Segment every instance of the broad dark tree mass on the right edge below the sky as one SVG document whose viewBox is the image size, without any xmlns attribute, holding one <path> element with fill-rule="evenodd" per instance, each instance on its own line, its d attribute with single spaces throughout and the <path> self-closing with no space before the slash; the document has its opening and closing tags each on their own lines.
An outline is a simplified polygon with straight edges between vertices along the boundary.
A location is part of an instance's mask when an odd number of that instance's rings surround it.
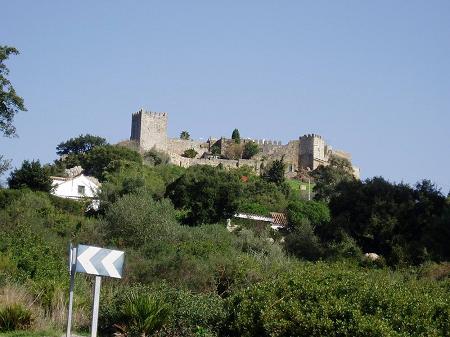
<svg viewBox="0 0 450 337">
<path fill-rule="evenodd" d="M 431 182 L 412 188 L 376 177 L 342 182 L 336 192 L 324 234 L 346 233 L 364 252 L 381 254 L 390 264 L 450 258 L 450 206 Z"/>
</svg>

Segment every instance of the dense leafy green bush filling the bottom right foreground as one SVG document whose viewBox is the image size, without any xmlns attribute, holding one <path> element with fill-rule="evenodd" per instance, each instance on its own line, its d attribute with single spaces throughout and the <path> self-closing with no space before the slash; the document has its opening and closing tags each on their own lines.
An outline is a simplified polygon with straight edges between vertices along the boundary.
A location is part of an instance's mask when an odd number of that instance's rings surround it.
<svg viewBox="0 0 450 337">
<path fill-rule="evenodd" d="M 235 293 L 221 336 L 448 336 L 448 287 L 347 264 L 303 264 Z"/>
</svg>

